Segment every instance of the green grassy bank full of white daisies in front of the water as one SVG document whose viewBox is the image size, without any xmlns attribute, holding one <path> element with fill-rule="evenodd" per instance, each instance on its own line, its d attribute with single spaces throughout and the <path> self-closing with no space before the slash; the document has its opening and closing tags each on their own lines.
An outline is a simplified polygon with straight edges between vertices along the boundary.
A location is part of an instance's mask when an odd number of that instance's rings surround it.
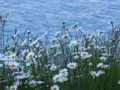
<svg viewBox="0 0 120 90">
<path fill-rule="evenodd" d="M 20 38 L 15 30 L 0 58 L 0 90 L 120 90 L 120 27 L 82 32 L 79 25 Z"/>
</svg>

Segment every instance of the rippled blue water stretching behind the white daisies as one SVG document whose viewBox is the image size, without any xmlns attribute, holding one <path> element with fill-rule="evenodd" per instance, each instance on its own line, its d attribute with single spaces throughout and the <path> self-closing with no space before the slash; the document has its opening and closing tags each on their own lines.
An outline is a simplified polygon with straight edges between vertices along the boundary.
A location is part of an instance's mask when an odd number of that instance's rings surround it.
<svg viewBox="0 0 120 90">
<path fill-rule="evenodd" d="M 14 27 L 34 34 L 61 30 L 79 23 L 83 30 L 107 31 L 110 21 L 120 22 L 120 0 L 0 0 L 0 15 L 8 14 L 5 30 Z"/>
</svg>

